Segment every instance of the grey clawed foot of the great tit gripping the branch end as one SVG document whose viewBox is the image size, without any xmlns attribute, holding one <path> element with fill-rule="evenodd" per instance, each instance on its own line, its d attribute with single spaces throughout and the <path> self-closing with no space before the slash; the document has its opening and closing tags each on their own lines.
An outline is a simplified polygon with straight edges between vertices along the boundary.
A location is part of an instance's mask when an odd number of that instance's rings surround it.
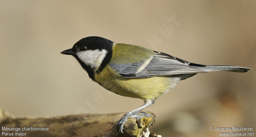
<svg viewBox="0 0 256 137">
<path fill-rule="evenodd" d="M 124 116 L 121 118 L 121 120 L 119 120 L 117 122 L 117 126 L 119 126 L 119 132 L 120 133 L 123 133 L 123 129 L 124 129 L 124 123 L 128 120 L 128 118 L 132 118 L 132 119 L 136 119 L 136 120 L 139 120 L 139 124 L 140 125 L 140 122 L 141 122 L 141 119 L 140 118 L 144 118 L 144 117 L 152 117 L 153 120 L 154 120 L 154 123 L 155 123 L 155 118 L 153 115 L 149 114 L 149 113 L 146 113 L 146 112 L 140 112 L 142 114 L 133 114 L 133 115 L 130 115 L 129 113 L 126 113 L 124 114 Z"/>
</svg>

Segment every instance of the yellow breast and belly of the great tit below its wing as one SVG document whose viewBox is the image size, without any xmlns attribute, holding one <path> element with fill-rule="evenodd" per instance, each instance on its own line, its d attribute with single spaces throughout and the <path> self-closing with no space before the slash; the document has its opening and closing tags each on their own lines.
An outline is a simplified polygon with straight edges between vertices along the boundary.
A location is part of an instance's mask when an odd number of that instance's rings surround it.
<svg viewBox="0 0 256 137">
<path fill-rule="evenodd" d="M 180 80 L 172 76 L 124 78 L 114 72 L 108 65 L 102 72 L 95 74 L 94 79 L 111 92 L 143 100 L 158 98 L 168 92 Z"/>
</svg>

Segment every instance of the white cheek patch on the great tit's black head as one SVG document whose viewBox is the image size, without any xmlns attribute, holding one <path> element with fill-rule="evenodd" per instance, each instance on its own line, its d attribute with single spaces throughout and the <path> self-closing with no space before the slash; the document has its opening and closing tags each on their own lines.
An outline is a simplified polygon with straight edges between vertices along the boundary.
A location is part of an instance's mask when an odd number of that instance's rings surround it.
<svg viewBox="0 0 256 137">
<path fill-rule="evenodd" d="M 108 51 L 105 49 L 102 50 L 88 50 L 84 52 L 77 52 L 77 57 L 83 61 L 86 65 L 89 65 L 93 69 L 100 67 L 103 59 L 106 57 Z"/>
</svg>

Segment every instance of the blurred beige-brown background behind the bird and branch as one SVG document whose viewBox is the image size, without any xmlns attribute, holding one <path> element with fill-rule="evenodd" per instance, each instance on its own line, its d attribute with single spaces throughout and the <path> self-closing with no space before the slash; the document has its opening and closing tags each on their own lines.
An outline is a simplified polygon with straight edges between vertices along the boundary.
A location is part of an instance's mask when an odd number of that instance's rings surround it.
<svg viewBox="0 0 256 137">
<path fill-rule="evenodd" d="M 0 1 L 0 108 L 15 116 L 128 112 L 143 104 L 89 79 L 71 56 L 100 36 L 190 62 L 256 68 L 256 1 Z M 171 17 L 174 20 L 168 20 Z M 168 34 L 163 35 L 162 31 Z M 157 39 L 156 44 L 150 40 Z M 146 108 L 163 136 L 220 136 L 210 127 L 256 130 L 254 70 L 181 81 Z"/>
</svg>

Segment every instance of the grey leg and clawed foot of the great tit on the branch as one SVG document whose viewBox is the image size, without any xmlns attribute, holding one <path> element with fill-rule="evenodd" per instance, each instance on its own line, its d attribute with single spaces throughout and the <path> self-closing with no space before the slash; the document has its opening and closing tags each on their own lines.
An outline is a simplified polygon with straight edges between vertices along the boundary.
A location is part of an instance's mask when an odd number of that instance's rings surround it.
<svg viewBox="0 0 256 137">
<path fill-rule="evenodd" d="M 128 118 L 136 118 L 137 120 L 140 120 L 140 117 L 153 117 L 151 114 L 148 113 L 143 113 L 141 115 L 138 115 L 144 108 L 152 106 L 155 103 L 155 101 L 153 99 L 147 99 L 144 101 L 144 105 L 124 114 L 124 116 L 122 117 L 121 120 L 119 120 L 117 122 L 117 126 L 119 126 L 119 132 L 123 133 L 123 129 L 124 129 L 124 123 L 127 121 Z M 154 122 L 155 122 L 155 118 L 153 117 Z"/>
</svg>

